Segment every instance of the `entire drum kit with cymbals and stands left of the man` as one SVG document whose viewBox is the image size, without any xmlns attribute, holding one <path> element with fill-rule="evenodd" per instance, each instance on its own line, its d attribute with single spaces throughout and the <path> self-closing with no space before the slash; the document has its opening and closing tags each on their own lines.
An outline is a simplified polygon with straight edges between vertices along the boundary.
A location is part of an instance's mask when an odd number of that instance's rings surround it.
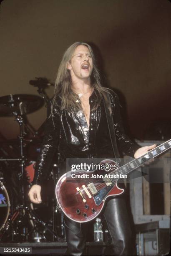
<svg viewBox="0 0 171 256">
<path fill-rule="evenodd" d="M 27 115 L 48 102 L 44 89 L 53 85 L 46 78 L 36 78 L 30 84 L 38 87 L 41 97 L 25 94 L 0 97 L 0 117 L 14 117 L 20 128 L 17 139 L 5 140 L 1 136 L 0 241 L 65 241 L 63 214 L 58 211 L 54 195 L 60 171 L 56 161 L 59 155 L 53 161 L 47 187 L 42 189 L 43 204 L 35 205 L 28 199 L 44 124 L 35 131 Z M 49 191 L 49 187 L 54 189 Z"/>
</svg>

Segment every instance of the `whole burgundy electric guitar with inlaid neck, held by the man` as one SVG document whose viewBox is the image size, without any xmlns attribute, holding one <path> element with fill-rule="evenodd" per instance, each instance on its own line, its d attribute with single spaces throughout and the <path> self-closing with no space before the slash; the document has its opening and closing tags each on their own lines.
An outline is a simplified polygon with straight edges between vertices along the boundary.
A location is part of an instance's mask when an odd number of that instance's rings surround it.
<svg viewBox="0 0 171 256">
<path fill-rule="evenodd" d="M 171 148 L 171 139 L 114 171 L 99 172 L 95 170 L 92 172 L 80 171 L 79 173 L 70 171 L 63 174 L 55 189 L 59 207 L 68 218 L 76 222 L 85 223 L 93 220 L 103 209 L 108 197 L 121 195 L 124 192 L 124 189 L 117 186 L 117 175 L 122 177 L 122 175 L 132 172 L 141 164 L 169 148 Z M 114 165 L 116 163 L 106 159 L 100 164 Z"/>
</svg>

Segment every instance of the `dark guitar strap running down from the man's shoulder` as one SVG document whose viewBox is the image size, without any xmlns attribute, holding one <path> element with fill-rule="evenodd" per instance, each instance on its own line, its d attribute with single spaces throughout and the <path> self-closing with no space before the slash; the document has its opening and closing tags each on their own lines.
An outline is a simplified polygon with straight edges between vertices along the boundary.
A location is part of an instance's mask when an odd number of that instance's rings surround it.
<svg viewBox="0 0 171 256">
<path fill-rule="evenodd" d="M 107 97 L 107 100 L 108 100 L 108 102 L 110 104 L 110 107 L 112 109 L 111 99 L 110 99 L 110 96 L 109 96 L 108 93 L 106 93 L 106 97 Z M 108 109 L 108 107 L 106 105 L 106 101 L 105 101 L 104 98 L 103 98 L 103 103 L 104 103 L 106 119 L 107 119 L 107 123 L 108 123 L 108 131 L 109 131 L 109 135 L 110 135 L 110 138 L 111 138 L 113 154 L 114 154 L 114 157 L 119 162 L 120 155 L 119 155 L 119 151 L 118 151 L 118 147 L 117 147 L 117 143 L 116 143 L 116 136 L 115 136 L 114 123 L 113 123 L 113 116 L 112 116 L 112 113 L 110 113 L 110 110 Z"/>
</svg>

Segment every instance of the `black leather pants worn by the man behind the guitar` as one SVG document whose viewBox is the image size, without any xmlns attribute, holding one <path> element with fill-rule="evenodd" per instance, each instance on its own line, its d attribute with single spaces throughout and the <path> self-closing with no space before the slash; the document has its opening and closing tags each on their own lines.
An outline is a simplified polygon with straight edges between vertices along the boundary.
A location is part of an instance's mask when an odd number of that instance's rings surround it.
<svg viewBox="0 0 171 256">
<path fill-rule="evenodd" d="M 108 200 L 102 215 L 111 236 L 111 255 L 131 255 L 133 241 L 124 198 L 119 197 Z M 67 255 L 86 255 L 87 226 L 86 223 L 77 223 L 65 217 L 65 233 L 68 243 Z"/>
</svg>

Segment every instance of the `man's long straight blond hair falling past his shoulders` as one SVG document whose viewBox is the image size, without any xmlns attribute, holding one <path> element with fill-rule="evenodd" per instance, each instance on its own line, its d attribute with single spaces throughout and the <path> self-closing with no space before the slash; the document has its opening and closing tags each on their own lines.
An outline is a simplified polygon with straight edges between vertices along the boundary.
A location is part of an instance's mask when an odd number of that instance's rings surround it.
<svg viewBox="0 0 171 256">
<path fill-rule="evenodd" d="M 92 60 L 93 60 L 93 71 L 91 73 L 91 86 L 94 87 L 95 92 L 98 93 L 99 97 L 98 97 L 98 100 L 94 102 L 92 110 L 95 110 L 96 108 L 98 108 L 102 97 L 104 97 L 104 99 L 107 102 L 106 92 L 108 93 L 110 92 L 108 88 L 101 86 L 100 74 L 96 66 L 96 61 L 95 61 L 95 57 L 94 57 L 91 46 L 83 42 L 75 42 L 65 51 L 62 61 L 60 62 L 57 78 L 55 81 L 55 92 L 51 102 L 52 111 L 53 111 L 53 106 L 54 106 L 54 103 L 56 102 L 57 97 L 60 97 L 60 100 L 61 100 L 61 105 L 60 105 L 61 110 L 63 109 L 70 110 L 71 107 L 75 107 L 77 110 L 81 108 L 80 102 L 77 100 L 78 95 L 76 95 L 71 89 L 72 80 L 70 76 L 70 71 L 68 70 L 68 63 L 71 61 L 74 51 L 79 45 L 84 45 L 89 49 Z"/>
</svg>

